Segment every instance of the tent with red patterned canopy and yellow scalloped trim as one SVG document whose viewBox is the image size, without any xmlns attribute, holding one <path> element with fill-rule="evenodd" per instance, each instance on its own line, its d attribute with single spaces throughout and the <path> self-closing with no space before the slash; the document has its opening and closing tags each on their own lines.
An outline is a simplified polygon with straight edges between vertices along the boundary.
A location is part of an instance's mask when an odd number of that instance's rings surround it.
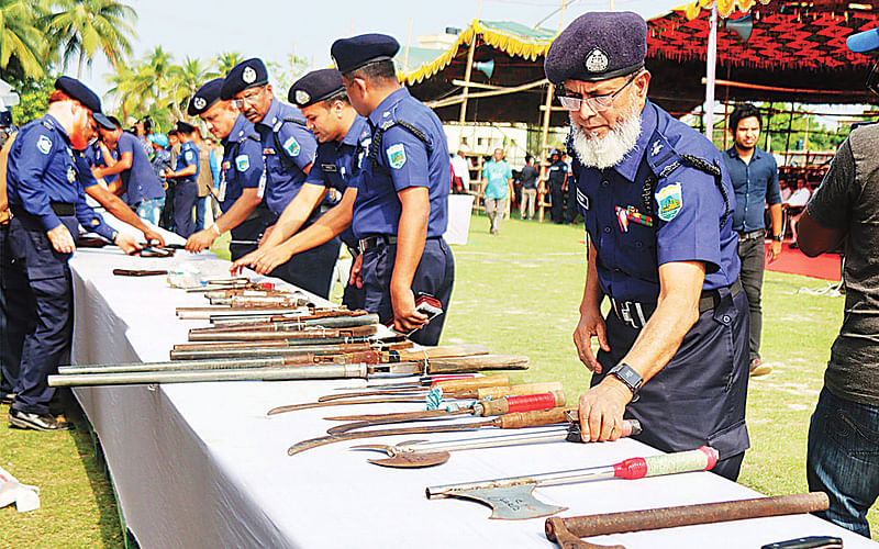
<svg viewBox="0 0 879 549">
<path fill-rule="evenodd" d="M 710 11 L 701 7 L 711 0 L 694 3 L 700 4 L 699 10 L 688 7 L 693 19 L 688 19 L 682 7 L 648 21 L 650 97 L 676 114 L 692 111 L 705 97 L 702 79 Z M 748 7 L 749 12 L 741 11 Z M 845 38 L 879 26 L 879 10 L 871 4 L 719 0 L 719 10 L 727 8 L 730 18 L 717 32 L 717 99 L 869 100 L 864 82 L 872 59 L 849 52 Z M 746 15 L 753 24 L 747 41 L 732 29 L 735 23 L 746 25 L 748 21 L 742 21 Z M 555 34 L 512 22 L 474 21 L 450 48 L 404 71 L 403 78 L 413 94 L 432 103 L 443 120 L 459 120 L 466 94 L 468 122 L 539 124 L 546 102 L 543 60 Z M 474 63 L 489 60 L 494 61 L 491 78 L 472 69 Z M 735 86 L 727 87 L 730 81 Z M 550 125 L 564 125 L 566 119 L 567 114 L 554 107 Z"/>
</svg>

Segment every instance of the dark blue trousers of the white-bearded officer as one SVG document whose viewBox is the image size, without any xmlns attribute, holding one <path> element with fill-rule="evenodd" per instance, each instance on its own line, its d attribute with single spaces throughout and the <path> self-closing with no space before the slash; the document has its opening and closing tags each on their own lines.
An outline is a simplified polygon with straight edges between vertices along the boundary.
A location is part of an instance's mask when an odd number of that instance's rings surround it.
<svg viewBox="0 0 879 549">
<path fill-rule="evenodd" d="M 748 304 L 745 292 L 717 290 L 717 305 L 699 315 L 678 352 L 641 388 L 641 399 L 626 406 L 626 417 L 638 419 L 639 441 L 663 451 L 685 451 L 709 445 L 720 452 L 713 471 L 738 478 L 749 448 L 745 426 L 748 391 Z M 611 311 L 605 320 L 610 352 L 600 350 L 598 384 L 632 348 L 641 329 Z"/>
</svg>

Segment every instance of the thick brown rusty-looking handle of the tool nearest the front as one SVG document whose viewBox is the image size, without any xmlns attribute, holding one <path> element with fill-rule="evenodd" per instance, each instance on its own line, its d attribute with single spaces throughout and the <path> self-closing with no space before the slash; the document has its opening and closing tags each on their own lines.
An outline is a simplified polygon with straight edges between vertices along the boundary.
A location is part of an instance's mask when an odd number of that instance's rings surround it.
<svg viewBox="0 0 879 549">
<path fill-rule="evenodd" d="M 681 505 L 646 511 L 608 513 L 604 515 L 587 515 L 570 518 L 553 518 L 546 520 L 546 537 L 556 540 L 556 529 L 564 525 L 565 530 L 586 538 L 607 534 L 626 531 L 656 530 L 696 524 L 713 524 L 745 518 L 798 515 L 824 511 L 830 506 L 827 494 L 811 492 L 808 494 L 779 495 L 757 497 L 733 502 L 706 503 L 699 505 Z"/>
</svg>

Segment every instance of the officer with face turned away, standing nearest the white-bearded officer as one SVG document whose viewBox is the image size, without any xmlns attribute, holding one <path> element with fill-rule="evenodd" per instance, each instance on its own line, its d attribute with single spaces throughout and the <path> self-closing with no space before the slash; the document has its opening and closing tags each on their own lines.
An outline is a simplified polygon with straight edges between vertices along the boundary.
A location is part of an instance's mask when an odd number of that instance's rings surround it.
<svg viewBox="0 0 879 549">
<path fill-rule="evenodd" d="M 392 59 L 399 49 L 383 34 L 333 43 L 348 101 L 369 124 L 369 148 L 357 155 L 356 188 L 348 187 L 334 215 L 324 215 L 291 243 L 307 249 L 351 226 L 363 254 L 364 309 L 382 323 L 392 321 L 399 332 L 416 330 L 413 341 L 436 345 L 446 315 L 427 324 L 415 299 L 433 296 L 447 311 L 452 296 L 455 261 L 443 239 L 448 145 L 436 114 L 397 81 Z"/>
</svg>

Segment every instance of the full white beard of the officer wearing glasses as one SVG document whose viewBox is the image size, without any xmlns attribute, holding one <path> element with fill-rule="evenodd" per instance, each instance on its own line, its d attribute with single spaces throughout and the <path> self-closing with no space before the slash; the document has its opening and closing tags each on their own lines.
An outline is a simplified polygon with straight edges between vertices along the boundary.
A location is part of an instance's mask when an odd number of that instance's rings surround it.
<svg viewBox="0 0 879 549">
<path fill-rule="evenodd" d="M 586 132 L 570 121 L 571 145 L 580 164 L 587 167 L 605 169 L 616 166 L 632 153 L 641 135 L 641 112 L 637 103 L 633 102 L 616 127 L 608 132 L 604 137 L 598 137 L 591 132 Z"/>
</svg>

